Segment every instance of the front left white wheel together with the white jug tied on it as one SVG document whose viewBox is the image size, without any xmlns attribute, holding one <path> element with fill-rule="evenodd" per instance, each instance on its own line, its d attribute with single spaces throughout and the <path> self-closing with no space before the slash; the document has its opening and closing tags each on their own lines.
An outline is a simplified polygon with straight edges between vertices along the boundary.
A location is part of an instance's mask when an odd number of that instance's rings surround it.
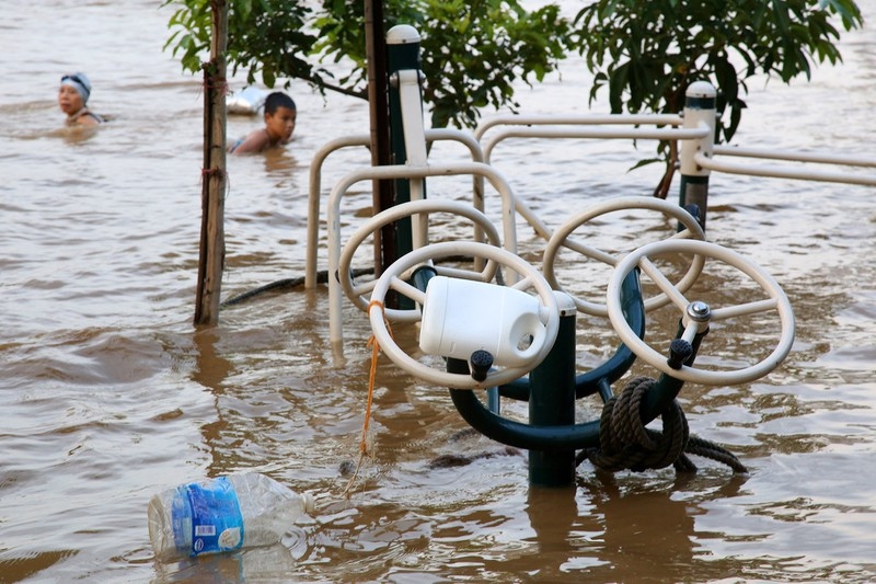
<svg viewBox="0 0 876 584">
<path fill-rule="evenodd" d="M 406 275 L 410 278 L 412 268 L 426 262 L 464 254 L 479 255 L 497 262 L 515 270 L 522 279 L 511 287 L 505 287 L 491 284 L 484 273 L 464 274 L 463 271 L 457 271 L 450 282 L 461 279 L 470 283 L 469 286 L 451 286 L 452 289 L 448 290 L 442 285 L 447 286 L 449 282 L 439 279 L 446 276 L 437 276 L 430 279 L 425 291 L 405 279 Z M 527 302 L 518 297 L 517 293 L 523 295 L 522 290 L 530 288 L 538 294 L 538 301 Z M 425 344 L 437 351 L 443 350 L 438 356 L 464 358 L 476 371 L 473 375 L 442 371 L 424 365 L 399 347 L 384 322 L 383 301 L 390 289 L 424 307 L 420 348 L 424 348 Z M 454 294 L 460 293 L 471 296 L 453 298 Z M 481 299 L 476 296 L 481 296 Z M 523 296 L 531 298 L 528 295 Z M 474 304 L 480 312 L 465 310 L 462 306 L 464 302 Z M 454 309 L 458 311 L 456 314 Z M 459 311 L 464 312 L 460 314 Z M 533 266 L 500 248 L 471 241 L 433 243 L 393 262 L 377 280 L 368 306 L 368 317 L 380 347 L 397 366 L 420 379 L 454 389 L 488 388 L 520 378 L 544 360 L 553 347 L 560 327 L 560 309 L 554 291 Z M 508 324 L 507 329 L 505 324 Z M 439 339 L 435 340 L 433 335 Z M 528 337 L 528 346 L 519 347 L 519 341 L 523 336 Z M 459 353 L 461 347 L 469 344 L 475 345 L 475 348 L 468 354 Z M 498 350 L 486 355 L 482 346 L 495 346 Z M 507 367 L 493 369 L 494 364 Z"/>
</svg>

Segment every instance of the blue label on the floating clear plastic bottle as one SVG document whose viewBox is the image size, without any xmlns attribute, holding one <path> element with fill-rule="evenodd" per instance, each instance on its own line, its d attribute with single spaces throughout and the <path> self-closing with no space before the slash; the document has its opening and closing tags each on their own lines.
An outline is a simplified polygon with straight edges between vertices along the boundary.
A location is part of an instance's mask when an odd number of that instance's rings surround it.
<svg viewBox="0 0 876 584">
<path fill-rule="evenodd" d="M 174 537 L 185 541 L 183 529 L 191 529 L 191 557 L 232 551 L 243 546 L 243 516 L 238 494 L 227 477 L 195 482 L 180 488 L 188 508 L 174 505 Z M 178 515 L 178 516 L 177 516 Z M 187 515 L 187 516 L 185 516 Z M 191 522 L 188 520 L 191 517 Z"/>
</svg>

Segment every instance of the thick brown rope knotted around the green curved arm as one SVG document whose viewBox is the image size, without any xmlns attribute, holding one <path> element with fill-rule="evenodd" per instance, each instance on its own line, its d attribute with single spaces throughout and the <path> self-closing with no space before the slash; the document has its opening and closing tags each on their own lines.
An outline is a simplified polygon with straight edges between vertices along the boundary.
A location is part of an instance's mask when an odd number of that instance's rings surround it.
<svg viewBox="0 0 876 584">
<path fill-rule="evenodd" d="M 636 377 L 620 396 L 606 402 L 599 420 L 599 447 L 580 451 L 578 463 L 589 460 L 595 467 L 610 472 L 625 469 L 642 472 L 670 465 L 676 472 L 695 472 L 696 466 L 687 456 L 690 454 L 723 462 L 735 472 L 748 472 L 729 450 L 690 435 L 688 420 L 678 400 L 672 400 L 660 414 L 662 432 L 645 427 L 639 408 L 655 383 L 648 377 Z"/>
</svg>

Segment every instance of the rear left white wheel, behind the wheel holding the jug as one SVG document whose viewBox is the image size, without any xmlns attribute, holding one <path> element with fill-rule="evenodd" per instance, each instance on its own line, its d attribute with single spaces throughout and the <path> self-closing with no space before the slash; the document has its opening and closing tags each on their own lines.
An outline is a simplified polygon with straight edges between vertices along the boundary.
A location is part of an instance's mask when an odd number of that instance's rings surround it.
<svg viewBox="0 0 876 584">
<path fill-rule="evenodd" d="M 377 284 L 377 279 L 360 283 L 355 283 L 353 279 L 350 265 L 356 251 L 362 244 L 362 242 L 383 226 L 390 225 L 404 217 L 425 215 L 429 213 L 448 213 L 465 217 L 475 226 L 484 230 L 487 242 L 496 247 L 502 244 L 499 232 L 496 229 L 496 226 L 494 226 L 483 213 L 471 205 L 456 201 L 435 201 L 424 198 L 420 201 L 411 201 L 392 206 L 374 215 L 368 220 L 368 222 L 357 229 L 349 238 L 349 241 L 347 241 L 347 244 L 344 245 L 344 250 L 341 253 L 337 278 L 341 282 L 341 288 L 344 290 L 344 294 L 347 295 L 347 298 L 349 298 L 353 304 L 362 310 L 368 311 L 368 297 Z M 473 272 L 446 266 L 433 267 L 438 274 L 441 275 L 468 279 L 482 279 L 487 282 L 493 279 L 493 276 L 496 273 L 495 262 L 487 262 L 483 272 Z M 390 321 L 414 322 L 419 320 L 419 310 L 387 309 L 387 318 Z"/>
</svg>

